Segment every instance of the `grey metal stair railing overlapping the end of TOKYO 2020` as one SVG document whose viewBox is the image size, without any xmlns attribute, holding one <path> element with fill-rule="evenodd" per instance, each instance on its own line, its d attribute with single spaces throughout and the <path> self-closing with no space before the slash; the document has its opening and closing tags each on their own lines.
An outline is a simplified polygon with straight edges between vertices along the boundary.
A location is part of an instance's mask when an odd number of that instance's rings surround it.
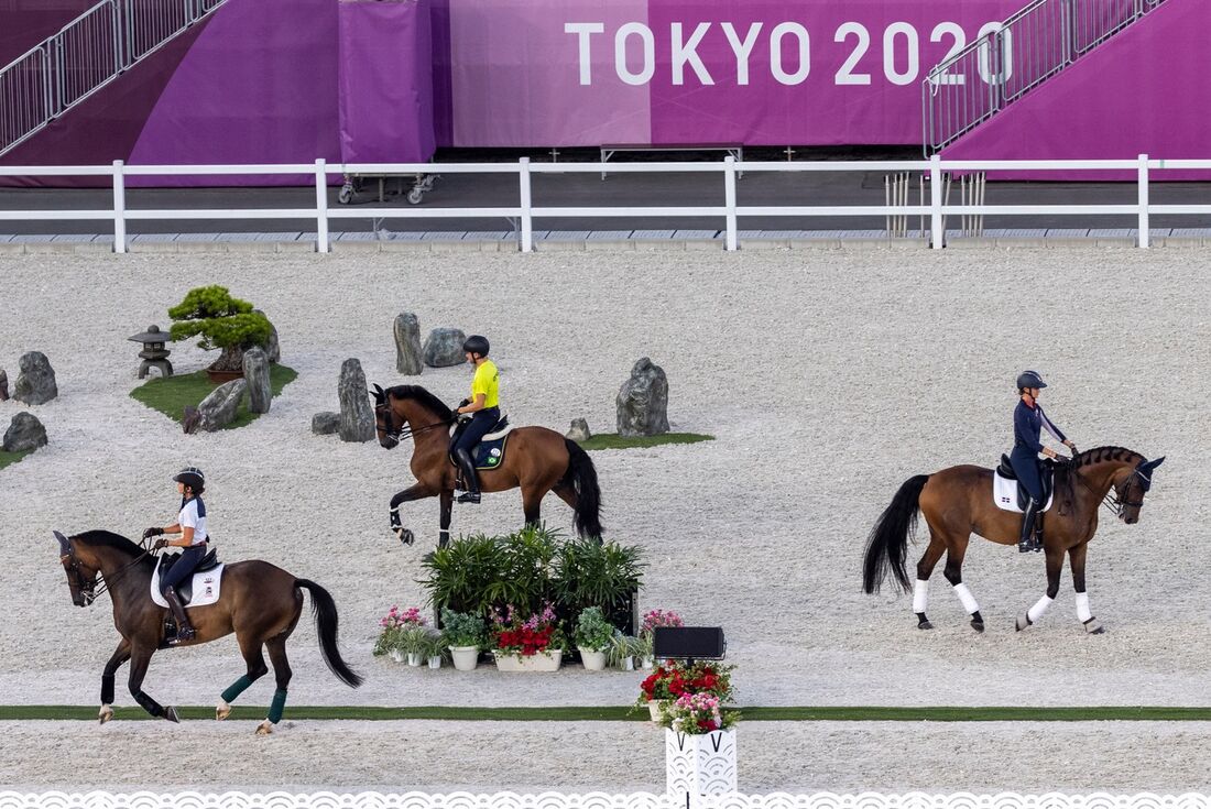
<svg viewBox="0 0 1211 809">
<path fill-rule="evenodd" d="M 1165 0 L 1034 0 L 989 23 L 922 85 L 925 155 L 941 151 Z"/>
</svg>

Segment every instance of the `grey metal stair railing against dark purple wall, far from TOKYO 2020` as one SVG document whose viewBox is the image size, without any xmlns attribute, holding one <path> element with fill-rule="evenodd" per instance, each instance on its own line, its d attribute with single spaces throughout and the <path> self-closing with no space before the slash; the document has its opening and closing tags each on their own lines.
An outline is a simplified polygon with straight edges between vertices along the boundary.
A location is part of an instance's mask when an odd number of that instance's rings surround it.
<svg viewBox="0 0 1211 809">
<path fill-rule="evenodd" d="M 226 0 L 101 0 L 0 69 L 0 156 Z"/>
</svg>

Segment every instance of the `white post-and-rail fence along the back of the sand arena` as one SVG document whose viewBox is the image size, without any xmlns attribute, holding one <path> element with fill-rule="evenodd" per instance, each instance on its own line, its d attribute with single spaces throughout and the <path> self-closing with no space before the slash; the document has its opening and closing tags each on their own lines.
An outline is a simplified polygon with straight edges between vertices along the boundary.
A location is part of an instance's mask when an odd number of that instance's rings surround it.
<svg viewBox="0 0 1211 809">
<path fill-rule="evenodd" d="M 516 163 L 271 163 L 241 166 L 0 166 L 0 177 L 110 177 L 113 207 L 93 210 L 0 211 L 0 222 L 109 220 L 114 230 L 114 252 L 127 248 L 128 222 L 172 222 L 199 219 L 314 219 L 316 251 L 327 253 L 333 219 L 471 219 L 509 218 L 518 222 L 522 252 L 534 249 L 534 220 L 559 218 L 636 218 L 636 217 L 718 217 L 724 223 L 724 247 L 740 246 L 740 220 L 746 217 L 888 217 L 924 216 L 930 222 L 930 246 L 945 246 L 948 216 L 1131 216 L 1137 220 L 1137 245 L 1149 246 L 1152 214 L 1211 214 L 1211 205 L 1152 205 L 1149 182 L 1153 171 L 1211 171 L 1211 160 L 930 160 L 896 161 L 745 161 L 725 157 L 722 162 L 637 162 L 609 163 L 610 173 L 714 173 L 723 180 L 723 205 L 684 206 L 544 206 L 534 205 L 534 174 L 598 173 L 606 163 L 532 163 L 522 157 Z M 925 205 L 739 205 L 736 178 L 758 172 L 923 172 L 929 178 Z M 1136 202 L 1119 205 L 947 205 L 943 199 L 943 173 L 977 171 L 1032 172 L 1135 172 Z M 328 178 L 334 174 L 516 174 L 517 205 L 498 207 L 368 207 L 329 208 Z M 306 208 L 131 208 L 127 206 L 127 177 L 197 176 L 310 176 L 315 184 L 315 206 Z"/>
</svg>

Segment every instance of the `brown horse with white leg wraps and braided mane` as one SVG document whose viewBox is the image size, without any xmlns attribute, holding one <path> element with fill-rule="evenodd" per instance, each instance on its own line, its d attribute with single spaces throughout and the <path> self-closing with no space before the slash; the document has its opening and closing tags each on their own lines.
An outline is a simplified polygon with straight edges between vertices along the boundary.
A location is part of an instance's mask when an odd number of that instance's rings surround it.
<svg viewBox="0 0 1211 809">
<path fill-rule="evenodd" d="M 1140 453 L 1121 447 L 1100 447 L 1058 465 L 1055 481 L 1055 503 L 1058 505 L 1046 513 L 1043 529 L 1048 591 L 1017 619 L 1017 631 L 1039 620 L 1060 592 L 1060 570 L 1066 553 L 1077 591 L 1077 618 L 1086 632 L 1096 635 L 1103 631 L 1090 612 L 1085 592 L 1085 553 L 1089 540 L 1097 530 L 1097 509 L 1106 504 L 1123 522 L 1138 522 L 1153 472 L 1164 460 L 1147 460 Z M 963 555 L 966 553 L 968 540 L 976 533 L 998 545 L 1014 545 L 1022 526 L 1021 513 L 1003 511 L 993 503 L 992 482 L 991 469 L 970 465 L 952 466 L 905 481 L 871 532 L 862 589 L 868 593 L 877 592 L 890 567 L 896 584 L 905 592 L 913 592 L 917 626 L 932 629 L 925 618 L 929 575 L 946 553 L 943 575 L 971 615 L 972 629 L 983 632 L 980 606 L 963 584 Z M 929 524 L 929 547 L 917 563 L 917 581 L 913 585 L 905 570 L 905 555 L 916 529 L 918 511 L 925 515 Z"/>
</svg>

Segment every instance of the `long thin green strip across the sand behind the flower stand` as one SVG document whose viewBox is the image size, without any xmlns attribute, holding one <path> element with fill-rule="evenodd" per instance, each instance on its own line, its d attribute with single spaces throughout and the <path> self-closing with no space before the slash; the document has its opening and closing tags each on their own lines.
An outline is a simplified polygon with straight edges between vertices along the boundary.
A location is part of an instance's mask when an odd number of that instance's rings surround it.
<svg viewBox="0 0 1211 809">
<path fill-rule="evenodd" d="M 234 719 L 263 719 L 265 705 L 237 705 Z M 1207 722 L 1211 707 L 1090 706 L 1090 707 L 741 707 L 748 722 Z M 208 706 L 178 707 L 183 719 L 213 719 Z M 139 707 L 117 707 L 120 719 L 150 719 Z M 288 719 L 443 719 L 463 722 L 648 722 L 645 710 L 630 707 L 360 707 L 288 705 Z M 97 707 L 88 705 L 0 705 L 0 721 L 90 719 Z"/>
</svg>

